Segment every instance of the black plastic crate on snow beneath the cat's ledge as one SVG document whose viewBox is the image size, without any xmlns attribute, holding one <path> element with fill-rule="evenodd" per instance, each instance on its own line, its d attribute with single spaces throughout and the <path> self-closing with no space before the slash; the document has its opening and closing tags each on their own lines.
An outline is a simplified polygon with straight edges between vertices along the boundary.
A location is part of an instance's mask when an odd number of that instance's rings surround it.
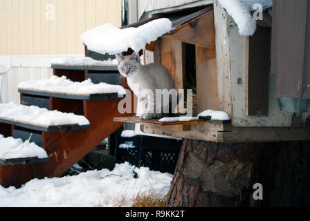
<svg viewBox="0 0 310 221">
<path fill-rule="evenodd" d="M 129 162 L 154 171 L 174 173 L 182 140 L 136 135 L 118 137 L 116 140 L 116 163 Z"/>
</svg>

